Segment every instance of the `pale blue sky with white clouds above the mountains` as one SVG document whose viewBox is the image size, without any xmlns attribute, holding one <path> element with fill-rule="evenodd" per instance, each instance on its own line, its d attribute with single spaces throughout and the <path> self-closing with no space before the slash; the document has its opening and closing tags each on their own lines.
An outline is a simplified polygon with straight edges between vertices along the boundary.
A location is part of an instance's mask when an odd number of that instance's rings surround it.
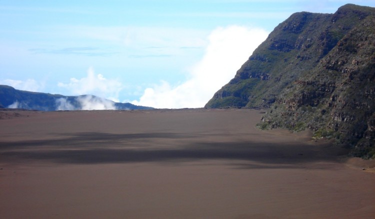
<svg viewBox="0 0 375 219">
<path fill-rule="evenodd" d="M 0 0 L 0 84 L 203 107 L 294 12 L 372 0 Z"/>
</svg>

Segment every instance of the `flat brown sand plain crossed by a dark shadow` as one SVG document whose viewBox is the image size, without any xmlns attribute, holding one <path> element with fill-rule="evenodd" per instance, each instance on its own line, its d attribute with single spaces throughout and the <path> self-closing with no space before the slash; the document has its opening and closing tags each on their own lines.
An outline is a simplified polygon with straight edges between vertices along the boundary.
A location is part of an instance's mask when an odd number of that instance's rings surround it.
<svg viewBox="0 0 375 219">
<path fill-rule="evenodd" d="M 260 116 L 3 111 L 0 218 L 373 218 L 372 161 Z"/>
</svg>

